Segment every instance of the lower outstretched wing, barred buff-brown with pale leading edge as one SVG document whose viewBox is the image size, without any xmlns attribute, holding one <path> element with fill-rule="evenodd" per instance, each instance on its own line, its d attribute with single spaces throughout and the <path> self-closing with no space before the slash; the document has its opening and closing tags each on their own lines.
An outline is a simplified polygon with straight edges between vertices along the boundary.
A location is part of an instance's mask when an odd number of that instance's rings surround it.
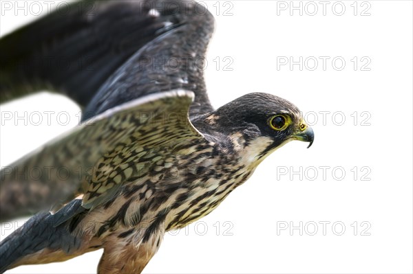
<svg viewBox="0 0 413 274">
<path fill-rule="evenodd" d="M 128 160 L 134 164 L 145 163 L 153 161 L 153 155 L 145 155 L 150 148 L 173 146 L 181 139 L 203 138 L 189 121 L 191 102 L 193 93 L 184 90 L 156 93 L 132 100 L 87 120 L 70 133 L 39 148 L 14 163 L 10 172 L 1 170 L 4 172 L 2 180 L 10 182 L 19 179 L 22 170 L 29 171 L 29 174 L 32 170 L 38 170 L 42 174 L 34 182 L 29 178 L 2 185 L 1 218 L 25 213 L 13 212 L 14 209 L 23 208 L 23 205 L 38 206 L 39 197 L 47 198 L 49 203 L 73 198 L 70 194 L 78 190 L 79 182 L 83 182 L 85 187 L 84 207 L 96 207 L 103 203 L 116 193 L 115 190 L 129 172 L 129 162 L 125 157 L 128 156 Z M 125 163 L 128 166 L 124 166 Z M 65 170 L 65 178 L 59 177 L 62 176 L 62 170 Z M 7 195 L 30 191 L 37 195 L 30 193 L 18 199 Z M 79 193 L 82 192 L 80 190 Z"/>
</svg>

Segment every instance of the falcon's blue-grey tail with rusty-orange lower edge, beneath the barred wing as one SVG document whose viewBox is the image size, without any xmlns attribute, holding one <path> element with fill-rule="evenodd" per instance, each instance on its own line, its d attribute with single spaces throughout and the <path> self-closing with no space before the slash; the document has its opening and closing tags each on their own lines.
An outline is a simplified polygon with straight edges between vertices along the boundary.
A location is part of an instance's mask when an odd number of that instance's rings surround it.
<svg viewBox="0 0 413 274">
<path fill-rule="evenodd" d="M 54 226 L 52 214 L 41 212 L 0 242 L 0 273 L 21 264 L 44 264 L 72 258 L 81 240 L 65 224 Z"/>
</svg>

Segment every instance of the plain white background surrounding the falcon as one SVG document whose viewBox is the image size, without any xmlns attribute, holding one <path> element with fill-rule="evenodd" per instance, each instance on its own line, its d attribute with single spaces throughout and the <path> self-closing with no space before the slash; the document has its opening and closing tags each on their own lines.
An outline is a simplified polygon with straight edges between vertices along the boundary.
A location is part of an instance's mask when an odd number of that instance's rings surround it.
<svg viewBox="0 0 413 274">
<path fill-rule="evenodd" d="M 313 3 L 306 1 L 301 3 L 302 16 L 299 10 L 290 15 L 290 1 L 221 1 L 219 14 L 216 1 L 204 3 L 216 17 L 206 71 L 213 105 L 253 91 L 279 95 L 311 114 L 311 122 L 318 114 L 313 123 L 315 143 L 308 150 L 298 141 L 277 150 L 196 227 L 190 225 L 177 236 L 167 233 L 144 272 L 412 273 L 412 2 L 359 1 L 354 15 L 353 1 L 343 1 L 346 10 L 341 16 L 336 15 L 340 3 L 332 10 L 335 1 L 327 5 L 326 15 L 319 1 L 313 2 L 318 8 L 314 16 L 309 15 Z M 284 4 L 287 10 L 280 9 Z M 366 8 L 370 16 L 361 16 Z M 232 15 L 223 16 L 224 10 Z M 2 35 L 38 17 L 13 13 L 2 14 Z M 302 71 L 299 65 L 277 69 L 277 59 L 283 56 L 295 61 L 313 56 L 319 66 L 311 71 L 310 58 Z M 326 70 L 319 56 L 330 57 Z M 213 62 L 217 57 L 218 70 Z M 228 63 L 224 57 L 232 58 L 232 71 L 224 71 Z M 346 61 L 341 71 L 338 61 L 336 69 L 332 67 L 335 57 Z M 361 62 L 363 57 L 367 59 Z M 370 71 L 361 70 L 366 60 L 371 61 L 365 67 Z M 56 119 L 52 126 L 25 126 L 24 121 L 19 126 L 1 125 L 4 166 L 75 126 L 79 110 L 60 96 L 43 93 L 4 104 L 1 111 L 72 115 L 67 126 Z M 323 111 L 330 112 L 325 121 Z M 338 113 L 335 119 L 333 113 Z M 341 117 L 346 120 L 339 126 Z M 319 167 L 329 168 L 326 178 Z M 290 168 L 298 171 L 293 178 Z M 342 179 L 341 170 L 346 172 Z M 320 223 L 324 221 L 330 222 L 325 233 Z M 299 229 L 290 231 L 300 222 L 302 235 Z M 13 222 L 11 229 L 10 224 L 3 225 L 1 238 L 21 224 L 23 220 Z M 277 231 L 285 224 L 288 229 Z M 314 224 L 318 231 L 311 236 Z M 341 225 L 346 230 L 339 236 Z M 208 230 L 202 235 L 204 227 Z M 224 233 L 225 229 L 229 231 Z M 232 235 L 224 235 L 228 233 Z M 101 252 L 8 273 L 94 273 Z"/>
</svg>

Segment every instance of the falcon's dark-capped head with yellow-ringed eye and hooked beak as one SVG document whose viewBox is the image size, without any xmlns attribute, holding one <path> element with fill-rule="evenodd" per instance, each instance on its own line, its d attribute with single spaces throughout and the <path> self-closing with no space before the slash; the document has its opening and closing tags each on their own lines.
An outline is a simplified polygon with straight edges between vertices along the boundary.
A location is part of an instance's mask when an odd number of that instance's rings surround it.
<svg viewBox="0 0 413 274">
<path fill-rule="evenodd" d="M 294 104 L 267 93 L 249 93 L 207 115 L 234 148 L 255 161 L 264 159 L 288 141 L 313 144 L 314 133 Z M 243 154 L 244 154 L 243 153 Z"/>
</svg>

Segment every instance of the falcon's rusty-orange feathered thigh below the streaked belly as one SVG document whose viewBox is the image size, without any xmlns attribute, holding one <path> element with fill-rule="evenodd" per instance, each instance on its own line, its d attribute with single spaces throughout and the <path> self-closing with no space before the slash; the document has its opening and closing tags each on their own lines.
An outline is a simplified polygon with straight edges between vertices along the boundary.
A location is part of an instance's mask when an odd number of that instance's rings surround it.
<svg viewBox="0 0 413 274">
<path fill-rule="evenodd" d="M 98 274 L 141 273 L 162 242 L 165 227 L 116 231 L 105 238 Z"/>
</svg>

